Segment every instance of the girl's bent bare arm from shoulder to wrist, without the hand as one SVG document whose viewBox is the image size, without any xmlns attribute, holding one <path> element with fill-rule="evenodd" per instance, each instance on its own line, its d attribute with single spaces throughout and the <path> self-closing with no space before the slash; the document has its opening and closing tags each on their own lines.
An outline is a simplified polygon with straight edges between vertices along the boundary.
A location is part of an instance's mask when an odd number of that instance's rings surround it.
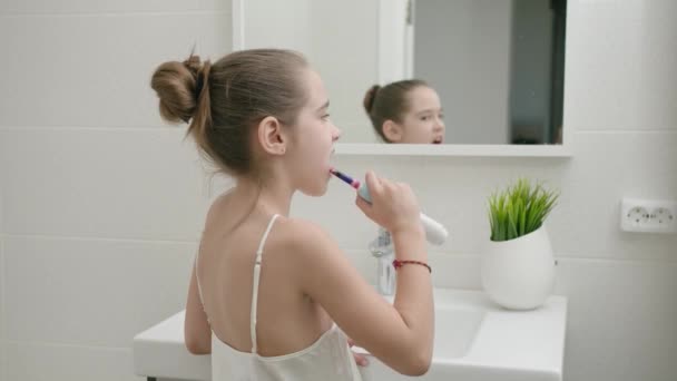
<svg viewBox="0 0 677 381">
<path fill-rule="evenodd" d="M 398 270 L 391 305 L 347 261 L 318 226 L 290 221 L 302 291 L 320 303 L 355 343 L 409 375 L 428 371 L 432 359 L 433 297 L 426 267 L 408 264 Z M 422 227 L 393 232 L 400 260 L 428 261 Z"/>
</svg>

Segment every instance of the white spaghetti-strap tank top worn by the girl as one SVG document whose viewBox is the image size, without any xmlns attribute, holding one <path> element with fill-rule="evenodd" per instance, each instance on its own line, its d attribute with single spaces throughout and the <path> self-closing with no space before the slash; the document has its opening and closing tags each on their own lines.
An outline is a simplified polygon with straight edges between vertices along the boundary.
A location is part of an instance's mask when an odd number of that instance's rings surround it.
<svg viewBox="0 0 677 381">
<path fill-rule="evenodd" d="M 242 352 L 220 341 L 212 331 L 212 380 L 213 381 L 282 381 L 282 380 L 322 380 L 322 381 L 360 381 L 362 380 L 347 338 L 333 324 L 317 341 L 298 352 L 262 356 L 256 350 L 256 309 L 258 302 L 258 283 L 263 247 L 277 218 L 274 215 L 256 251 L 254 265 L 254 286 L 252 290 L 252 312 L 249 332 L 252 352 Z M 197 256 L 195 257 L 197 267 Z M 196 272 L 197 275 L 197 272 Z M 199 280 L 197 287 L 202 300 Z"/>
</svg>

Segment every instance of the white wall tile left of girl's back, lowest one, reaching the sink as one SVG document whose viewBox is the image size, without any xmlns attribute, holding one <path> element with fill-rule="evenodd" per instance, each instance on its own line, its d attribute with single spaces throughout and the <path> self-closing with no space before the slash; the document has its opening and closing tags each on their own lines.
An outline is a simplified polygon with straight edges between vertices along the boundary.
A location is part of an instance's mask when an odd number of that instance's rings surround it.
<svg viewBox="0 0 677 381">
<path fill-rule="evenodd" d="M 9 235 L 7 339 L 128 348 L 136 333 L 183 309 L 196 248 Z"/>
</svg>

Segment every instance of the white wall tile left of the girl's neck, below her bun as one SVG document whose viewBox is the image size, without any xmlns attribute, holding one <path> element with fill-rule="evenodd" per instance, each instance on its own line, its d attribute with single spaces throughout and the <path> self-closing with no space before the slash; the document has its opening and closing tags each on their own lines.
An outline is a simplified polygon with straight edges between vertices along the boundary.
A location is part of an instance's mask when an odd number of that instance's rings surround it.
<svg viewBox="0 0 677 381">
<path fill-rule="evenodd" d="M 171 127 L 0 130 L 6 232 L 197 240 L 208 183 L 184 135 Z"/>
</svg>

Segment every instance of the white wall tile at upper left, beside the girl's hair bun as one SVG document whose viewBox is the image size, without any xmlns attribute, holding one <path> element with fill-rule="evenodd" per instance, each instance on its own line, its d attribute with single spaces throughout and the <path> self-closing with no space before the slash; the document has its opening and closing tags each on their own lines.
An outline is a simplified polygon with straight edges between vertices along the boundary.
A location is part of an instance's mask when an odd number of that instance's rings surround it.
<svg viewBox="0 0 677 381">
<path fill-rule="evenodd" d="M 161 126 L 148 86 L 164 60 L 229 50 L 229 12 L 0 16 L 0 126 Z"/>
</svg>

